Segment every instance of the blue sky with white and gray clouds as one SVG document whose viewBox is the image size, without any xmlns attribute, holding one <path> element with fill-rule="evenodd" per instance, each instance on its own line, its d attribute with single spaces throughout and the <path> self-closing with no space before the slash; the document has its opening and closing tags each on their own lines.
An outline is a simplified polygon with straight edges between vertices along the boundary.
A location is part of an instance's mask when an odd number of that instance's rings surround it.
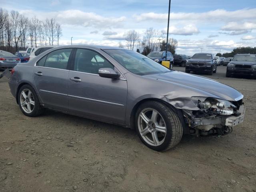
<svg viewBox="0 0 256 192">
<path fill-rule="evenodd" d="M 153 27 L 166 34 L 168 0 L 0 0 L 0 7 L 32 17 L 56 18 L 62 25 L 60 43 L 125 44 L 128 30 Z M 170 37 L 178 54 L 230 52 L 256 44 L 255 0 L 172 0 Z"/>
</svg>

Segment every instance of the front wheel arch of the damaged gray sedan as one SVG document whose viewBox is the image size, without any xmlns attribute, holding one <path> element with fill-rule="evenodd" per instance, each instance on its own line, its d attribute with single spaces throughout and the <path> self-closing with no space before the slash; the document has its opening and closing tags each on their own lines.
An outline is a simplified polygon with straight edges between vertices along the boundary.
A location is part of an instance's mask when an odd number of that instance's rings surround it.
<svg viewBox="0 0 256 192">
<path fill-rule="evenodd" d="M 184 121 L 184 116 L 183 116 L 183 113 L 182 113 L 182 110 L 181 109 L 177 109 L 175 108 L 174 106 L 172 106 L 170 103 L 164 101 L 164 100 L 161 100 L 161 99 L 158 99 L 158 98 L 145 98 L 143 100 L 140 100 L 139 102 L 137 102 L 134 107 L 132 108 L 132 112 L 130 114 L 130 128 L 131 129 L 135 129 L 135 126 L 134 126 L 134 120 L 135 120 L 135 114 L 136 114 L 136 111 L 138 109 L 138 107 L 146 102 L 146 101 L 158 101 L 166 106 L 168 106 L 169 108 L 171 108 L 174 112 L 176 112 L 176 114 L 178 115 L 179 119 L 180 119 L 180 122 L 182 124 L 182 128 L 183 128 L 183 132 L 186 134 L 188 133 L 188 125 L 185 123 Z"/>
</svg>

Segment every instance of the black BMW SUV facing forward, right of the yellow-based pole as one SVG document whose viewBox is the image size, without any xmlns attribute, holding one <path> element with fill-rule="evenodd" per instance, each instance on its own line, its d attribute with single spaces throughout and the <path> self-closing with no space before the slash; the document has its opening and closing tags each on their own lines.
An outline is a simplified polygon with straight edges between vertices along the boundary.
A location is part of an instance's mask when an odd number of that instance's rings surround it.
<svg viewBox="0 0 256 192">
<path fill-rule="evenodd" d="M 186 73 L 207 72 L 212 75 L 217 71 L 216 58 L 211 53 L 196 53 L 186 62 Z"/>
</svg>

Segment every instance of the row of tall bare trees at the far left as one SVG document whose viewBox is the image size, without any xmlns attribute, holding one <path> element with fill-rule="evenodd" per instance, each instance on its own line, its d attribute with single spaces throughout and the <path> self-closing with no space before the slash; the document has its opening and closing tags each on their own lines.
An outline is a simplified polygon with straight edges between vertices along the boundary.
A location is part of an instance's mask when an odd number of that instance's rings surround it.
<svg viewBox="0 0 256 192">
<path fill-rule="evenodd" d="M 59 44 L 62 28 L 55 18 L 28 18 L 15 10 L 0 8 L 0 49 L 16 52 L 28 46 Z"/>
</svg>

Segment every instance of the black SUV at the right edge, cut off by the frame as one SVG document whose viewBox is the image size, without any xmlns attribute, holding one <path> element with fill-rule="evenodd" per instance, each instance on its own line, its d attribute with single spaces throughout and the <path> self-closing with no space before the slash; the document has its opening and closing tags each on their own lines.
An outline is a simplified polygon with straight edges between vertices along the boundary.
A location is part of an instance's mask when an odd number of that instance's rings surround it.
<svg viewBox="0 0 256 192">
<path fill-rule="evenodd" d="M 227 66 L 226 77 L 232 75 L 256 77 L 256 55 L 236 54 Z"/>
</svg>

